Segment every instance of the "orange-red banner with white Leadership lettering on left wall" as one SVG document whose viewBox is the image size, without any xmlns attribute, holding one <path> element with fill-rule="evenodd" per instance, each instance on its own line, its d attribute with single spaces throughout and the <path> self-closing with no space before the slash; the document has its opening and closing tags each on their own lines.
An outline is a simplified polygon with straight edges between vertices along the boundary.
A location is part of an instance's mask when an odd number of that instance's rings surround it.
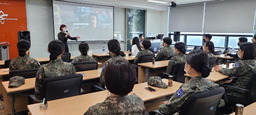
<svg viewBox="0 0 256 115">
<path fill-rule="evenodd" d="M 27 31 L 25 0 L 0 1 L 0 42 L 9 42 L 9 56 L 18 56 L 18 31 Z"/>
</svg>

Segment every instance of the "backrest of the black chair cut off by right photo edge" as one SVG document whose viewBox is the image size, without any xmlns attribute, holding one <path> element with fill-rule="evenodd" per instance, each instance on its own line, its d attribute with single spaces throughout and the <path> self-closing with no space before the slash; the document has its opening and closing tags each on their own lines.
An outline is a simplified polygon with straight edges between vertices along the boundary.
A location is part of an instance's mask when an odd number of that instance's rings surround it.
<svg viewBox="0 0 256 115">
<path fill-rule="evenodd" d="M 256 102 L 256 73 L 252 74 L 251 79 L 246 85 L 246 89 L 249 90 L 249 92 L 246 93 L 246 97 L 249 100 L 249 102 Z"/>
</svg>

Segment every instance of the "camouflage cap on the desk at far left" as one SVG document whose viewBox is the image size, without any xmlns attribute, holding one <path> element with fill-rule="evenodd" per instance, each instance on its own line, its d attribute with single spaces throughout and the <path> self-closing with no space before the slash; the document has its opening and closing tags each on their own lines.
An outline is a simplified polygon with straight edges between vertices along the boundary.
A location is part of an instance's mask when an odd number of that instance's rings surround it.
<svg viewBox="0 0 256 115">
<path fill-rule="evenodd" d="M 8 88 L 20 87 L 22 84 L 25 84 L 25 78 L 21 76 L 14 76 L 10 78 Z"/>
</svg>

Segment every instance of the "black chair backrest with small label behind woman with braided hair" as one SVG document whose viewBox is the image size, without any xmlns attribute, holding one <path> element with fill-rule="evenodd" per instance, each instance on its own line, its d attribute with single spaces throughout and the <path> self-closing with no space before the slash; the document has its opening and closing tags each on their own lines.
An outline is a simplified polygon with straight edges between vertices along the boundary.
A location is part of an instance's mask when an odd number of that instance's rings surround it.
<svg viewBox="0 0 256 115">
<path fill-rule="evenodd" d="M 46 78 L 42 82 L 40 99 L 51 101 L 80 95 L 82 80 L 82 74 Z"/>
</svg>

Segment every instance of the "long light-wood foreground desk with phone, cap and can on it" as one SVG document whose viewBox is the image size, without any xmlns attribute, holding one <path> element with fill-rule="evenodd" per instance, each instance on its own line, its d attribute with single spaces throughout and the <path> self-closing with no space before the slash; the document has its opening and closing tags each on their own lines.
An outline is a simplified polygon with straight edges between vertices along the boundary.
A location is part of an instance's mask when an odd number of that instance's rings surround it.
<svg viewBox="0 0 256 115">
<path fill-rule="evenodd" d="M 163 81 L 165 83 L 168 82 L 167 79 L 163 79 Z M 134 85 L 133 93 L 136 93 L 145 102 L 148 100 L 174 94 L 180 85 L 181 83 L 177 83 L 174 81 L 173 87 L 161 89 L 149 86 L 147 83 L 136 84 Z M 146 91 L 144 89 L 145 87 L 152 87 L 157 91 L 151 93 L 149 91 Z M 41 110 L 39 108 L 40 103 L 28 105 L 27 108 L 31 115 L 82 115 L 90 106 L 93 106 L 96 103 L 103 102 L 107 97 L 107 93 L 108 91 L 100 91 L 85 95 L 48 101 L 48 110 Z M 156 108 L 158 108 L 158 106 Z"/>
</svg>

